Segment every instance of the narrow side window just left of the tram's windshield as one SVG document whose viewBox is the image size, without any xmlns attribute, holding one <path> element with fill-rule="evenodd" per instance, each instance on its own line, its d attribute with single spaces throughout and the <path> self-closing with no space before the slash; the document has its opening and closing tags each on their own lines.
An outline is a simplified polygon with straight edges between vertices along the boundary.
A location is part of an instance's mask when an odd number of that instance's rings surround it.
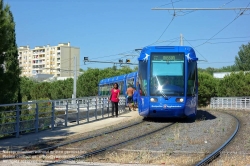
<svg viewBox="0 0 250 166">
<path fill-rule="evenodd" d="M 141 96 L 147 96 L 147 62 L 139 61 L 139 90 Z"/>
</svg>

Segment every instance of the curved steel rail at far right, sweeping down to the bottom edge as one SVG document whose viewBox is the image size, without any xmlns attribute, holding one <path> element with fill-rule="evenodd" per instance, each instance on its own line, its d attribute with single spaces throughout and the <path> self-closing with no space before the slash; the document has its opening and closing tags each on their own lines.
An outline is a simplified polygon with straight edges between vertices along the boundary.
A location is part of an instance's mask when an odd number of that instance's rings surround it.
<svg viewBox="0 0 250 166">
<path fill-rule="evenodd" d="M 229 113 L 227 113 L 227 114 L 229 114 Z M 212 160 L 214 160 L 215 158 L 217 158 L 220 155 L 221 151 L 233 140 L 233 138 L 235 137 L 235 135 L 239 131 L 239 128 L 240 128 L 240 122 L 239 122 L 239 120 L 235 116 L 233 116 L 231 114 L 229 114 L 229 115 L 232 116 L 232 117 L 234 117 L 234 119 L 237 122 L 236 129 L 234 130 L 233 134 L 230 136 L 230 138 L 223 145 L 221 145 L 218 149 L 216 149 L 214 152 L 212 152 L 206 158 L 204 158 L 199 163 L 197 163 L 196 166 L 207 165 Z"/>
</svg>

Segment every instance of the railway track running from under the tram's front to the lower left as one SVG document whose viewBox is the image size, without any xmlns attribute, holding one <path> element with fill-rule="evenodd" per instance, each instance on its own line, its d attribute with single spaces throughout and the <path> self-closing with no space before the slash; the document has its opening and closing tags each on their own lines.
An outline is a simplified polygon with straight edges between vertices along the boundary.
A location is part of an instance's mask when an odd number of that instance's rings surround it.
<svg viewBox="0 0 250 166">
<path fill-rule="evenodd" d="M 115 134 L 117 132 L 129 132 L 129 131 L 134 131 L 134 128 L 138 128 L 138 127 L 141 127 L 141 128 L 144 128 L 147 130 L 147 128 L 150 126 L 153 126 L 154 122 L 149 122 L 149 121 L 139 121 L 139 122 L 136 122 L 136 123 L 132 123 L 132 124 L 129 124 L 129 125 L 126 125 L 126 126 L 122 126 L 120 128 L 116 128 L 112 131 L 108 131 L 108 132 L 103 132 L 101 134 L 96 134 L 96 135 L 92 135 L 92 136 L 89 136 L 89 137 L 83 137 L 83 138 L 79 138 L 79 139 L 74 139 L 74 140 L 70 140 L 70 141 L 67 141 L 67 142 L 64 142 L 64 143 L 59 143 L 59 144 L 56 144 L 56 145 L 53 145 L 53 146 L 48 146 L 48 147 L 43 147 L 43 148 L 40 148 L 40 149 L 32 149 L 31 147 L 28 147 L 26 148 L 25 151 L 19 153 L 19 154 L 15 154 L 15 159 L 41 159 L 43 157 L 41 156 L 48 156 L 50 154 L 53 154 L 53 156 L 56 156 L 58 155 L 57 152 L 67 152 L 69 153 L 70 155 L 72 155 L 75 150 L 72 150 L 71 152 L 69 152 L 70 150 L 69 149 L 72 149 L 72 148 L 69 148 L 67 146 L 74 146 L 74 147 L 79 147 L 79 145 L 77 145 L 77 143 L 81 143 L 81 144 L 89 144 L 91 142 L 95 142 L 96 139 L 100 139 L 102 140 L 104 137 L 107 137 L 107 136 L 110 136 L 112 134 Z M 123 144 L 126 144 L 128 142 L 131 142 L 131 141 L 134 141 L 136 139 L 139 139 L 139 138 L 142 138 L 142 137 L 145 137 L 149 134 L 153 134 L 155 132 L 158 132 L 170 125 L 172 125 L 173 123 L 160 123 L 160 125 L 158 125 L 157 127 L 153 127 L 152 129 L 150 129 L 149 131 L 144 131 L 143 133 L 135 136 L 135 137 L 130 137 L 128 139 L 120 139 L 118 141 L 115 141 L 115 143 L 108 143 L 107 146 L 101 146 L 100 148 L 94 148 L 95 150 L 91 150 L 91 148 L 89 148 L 86 152 L 86 149 L 84 150 L 85 153 L 82 153 L 79 155 L 79 153 L 76 153 L 74 154 L 74 157 L 70 157 L 70 158 L 67 158 L 65 160 L 58 160 L 57 162 L 53 162 L 53 164 L 55 163 L 62 163 L 62 162 L 65 162 L 65 161 L 70 161 L 70 160 L 75 160 L 75 159 L 79 159 L 79 158 L 86 158 L 88 156 L 91 156 L 91 155 L 94 155 L 94 154 L 98 154 L 98 153 L 101 153 L 103 151 L 106 151 L 108 149 L 111 149 L 111 148 L 114 148 L 115 146 L 119 146 L 119 145 L 123 145 Z M 127 130 L 127 131 L 125 131 Z M 87 142 L 87 143 L 86 143 Z M 36 147 L 36 146 L 35 146 Z M 74 148 L 73 148 L 74 149 Z M 52 153 L 51 153 L 52 152 Z M 64 153 L 65 154 L 65 153 Z M 60 155 L 60 154 L 59 154 Z M 37 157 L 34 157 L 34 156 L 37 156 Z M 4 158 L 5 160 L 8 159 L 8 158 Z M 13 158 L 10 158 L 10 159 L 13 159 Z"/>
</svg>

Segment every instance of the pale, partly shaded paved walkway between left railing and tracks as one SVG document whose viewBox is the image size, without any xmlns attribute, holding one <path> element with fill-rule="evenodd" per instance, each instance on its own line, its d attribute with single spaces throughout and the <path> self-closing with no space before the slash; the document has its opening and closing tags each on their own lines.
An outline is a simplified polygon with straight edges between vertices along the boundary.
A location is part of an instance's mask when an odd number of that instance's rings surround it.
<svg viewBox="0 0 250 166">
<path fill-rule="evenodd" d="M 46 140 L 56 140 L 61 138 L 63 139 L 76 134 L 82 134 L 85 132 L 112 126 L 120 122 L 129 121 L 136 117 L 139 117 L 137 111 L 128 111 L 119 115 L 118 118 L 106 118 L 65 128 L 55 128 L 54 130 L 45 130 L 38 133 L 20 135 L 19 138 L 4 138 L 0 139 L 0 151 L 16 151 L 22 147 L 41 143 Z"/>
</svg>

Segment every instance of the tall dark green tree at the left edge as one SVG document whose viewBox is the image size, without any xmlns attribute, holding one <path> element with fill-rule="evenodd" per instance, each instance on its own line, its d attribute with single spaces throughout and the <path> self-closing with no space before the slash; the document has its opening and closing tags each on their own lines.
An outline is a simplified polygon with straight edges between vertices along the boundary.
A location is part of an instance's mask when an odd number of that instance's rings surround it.
<svg viewBox="0 0 250 166">
<path fill-rule="evenodd" d="M 14 18 L 0 0 L 0 103 L 21 102 L 20 73 Z"/>
</svg>

